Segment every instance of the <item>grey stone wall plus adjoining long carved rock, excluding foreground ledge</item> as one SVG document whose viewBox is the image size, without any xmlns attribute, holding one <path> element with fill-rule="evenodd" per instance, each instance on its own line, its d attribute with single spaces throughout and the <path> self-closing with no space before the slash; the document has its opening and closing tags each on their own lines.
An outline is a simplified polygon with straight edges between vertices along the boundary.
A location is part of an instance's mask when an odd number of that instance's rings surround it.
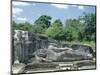
<svg viewBox="0 0 100 75">
<path fill-rule="evenodd" d="M 93 49 L 87 45 L 66 44 L 55 40 L 48 40 L 48 37 L 34 34 L 28 31 L 15 30 L 14 34 L 14 61 L 20 63 L 70 61 L 91 59 Z M 52 44 L 51 44 L 52 43 Z"/>
</svg>

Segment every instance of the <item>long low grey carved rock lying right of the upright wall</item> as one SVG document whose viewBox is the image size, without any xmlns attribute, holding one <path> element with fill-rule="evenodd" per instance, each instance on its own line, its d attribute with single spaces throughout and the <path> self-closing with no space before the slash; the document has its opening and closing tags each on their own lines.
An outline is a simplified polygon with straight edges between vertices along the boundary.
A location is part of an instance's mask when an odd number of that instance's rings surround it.
<svg viewBox="0 0 100 75">
<path fill-rule="evenodd" d="M 40 62 L 73 61 L 92 59 L 92 48 L 86 45 L 71 45 L 70 47 L 37 50 L 34 55 Z M 38 58 L 38 59 L 37 59 Z"/>
</svg>

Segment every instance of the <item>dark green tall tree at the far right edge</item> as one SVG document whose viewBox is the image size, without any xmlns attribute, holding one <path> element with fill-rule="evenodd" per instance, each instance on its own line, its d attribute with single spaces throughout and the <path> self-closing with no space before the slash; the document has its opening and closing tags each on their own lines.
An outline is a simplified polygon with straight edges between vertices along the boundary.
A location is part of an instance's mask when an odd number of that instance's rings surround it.
<svg viewBox="0 0 100 75">
<path fill-rule="evenodd" d="M 84 38 L 86 41 L 95 41 L 96 34 L 96 14 L 95 13 L 84 13 L 80 19 L 84 25 Z"/>
</svg>

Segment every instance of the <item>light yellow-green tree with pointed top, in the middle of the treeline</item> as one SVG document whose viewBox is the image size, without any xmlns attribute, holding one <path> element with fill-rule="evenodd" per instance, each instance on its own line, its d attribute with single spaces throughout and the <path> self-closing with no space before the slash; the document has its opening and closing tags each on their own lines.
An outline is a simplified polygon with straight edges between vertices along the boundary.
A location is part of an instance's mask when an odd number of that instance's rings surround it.
<svg viewBox="0 0 100 75">
<path fill-rule="evenodd" d="M 66 32 L 60 20 L 55 20 L 52 26 L 46 30 L 46 34 L 58 41 L 66 40 Z"/>
</svg>

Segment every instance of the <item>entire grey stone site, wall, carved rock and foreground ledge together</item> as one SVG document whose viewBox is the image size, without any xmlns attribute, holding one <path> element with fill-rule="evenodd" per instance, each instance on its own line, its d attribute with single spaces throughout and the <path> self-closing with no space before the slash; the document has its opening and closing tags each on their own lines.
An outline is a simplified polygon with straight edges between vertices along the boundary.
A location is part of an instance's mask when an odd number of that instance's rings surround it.
<svg viewBox="0 0 100 75">
<path fill-rule="evenodd" d="M 95 68 L 94 50 L 88 45 L 63 45 L 47 36 L 22 30 L 14 30 L 12 44 L 14 74 Z"/>
</svg>

